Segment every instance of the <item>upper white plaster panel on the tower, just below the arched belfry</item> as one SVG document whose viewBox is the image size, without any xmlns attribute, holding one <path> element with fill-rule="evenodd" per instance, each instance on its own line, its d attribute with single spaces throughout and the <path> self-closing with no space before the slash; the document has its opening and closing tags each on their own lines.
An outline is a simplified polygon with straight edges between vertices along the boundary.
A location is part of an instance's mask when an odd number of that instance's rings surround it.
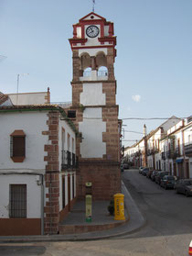
<svg viewBox="0 0 192 256">
<path fill-rule="evenodd" d="M 102 83 L 83 83 L 80 104 L 83 106 L 100 106 L 106 104 L 106 95 L 102 94 Z"/>
</svg>

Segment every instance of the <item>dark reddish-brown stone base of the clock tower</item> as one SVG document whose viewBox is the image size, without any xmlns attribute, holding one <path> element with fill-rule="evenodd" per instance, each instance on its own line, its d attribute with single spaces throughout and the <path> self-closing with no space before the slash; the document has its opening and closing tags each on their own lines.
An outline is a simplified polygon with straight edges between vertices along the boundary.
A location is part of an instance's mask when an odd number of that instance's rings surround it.
<svg viewBox="0 0 192 256">
<path fill-rule="evenodd" d="M 80 199 L 86 195 L 85 184 L 92 183 L 93 200 L 110 200 L 121 192 L 121 171 L 117 161 L 80 161 L 77 173 L 77 193 Z"/>
</svg>

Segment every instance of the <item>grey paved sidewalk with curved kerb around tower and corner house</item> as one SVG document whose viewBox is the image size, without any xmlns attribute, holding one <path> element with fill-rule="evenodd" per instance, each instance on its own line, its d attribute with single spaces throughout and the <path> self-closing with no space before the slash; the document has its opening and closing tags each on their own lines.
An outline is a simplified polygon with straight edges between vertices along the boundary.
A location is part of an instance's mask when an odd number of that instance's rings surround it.
<svg viewBox="0 0 192 256">
<path fill-rule="evenodd" d="M 67 227 L 65 234 L 59 235 L 45 235 L 45 236 L 27 236 L 27 237 L 0 237 L 0 242 L 34 242 L 34 241 L 80 241 L 80 240 L 93 240 L 93 239 L 109 239 L 118 237 L 125 234 L 133 233 L 137 229 L 144 226 L 145 220 L 140 210 L 135 205 L 132 196 L 122 184 L 122 193 L 124 195 L 125 217 L 126 221 L 115 221 L 110 217 L 107 211 L 108 201 L 93 202 L 92 208 L 92 222 L 85 222 L 84 203 L 78 202 L 73 211 L 69 214 L 66 220 L 63 221 L 64 227 Z M 66 232 L 73 233 L 66 234 Z M 84 228 L 85 233 L 77 233 L 74 227 Z M 96 231 L 91 231 L 93 227 Z M 115 228 L 112 228 L 115 227 Z M 86 229 L 87 228 L 87 229 Z M 68 231 L 67 231 L 68 230 Z"/>
</svg>

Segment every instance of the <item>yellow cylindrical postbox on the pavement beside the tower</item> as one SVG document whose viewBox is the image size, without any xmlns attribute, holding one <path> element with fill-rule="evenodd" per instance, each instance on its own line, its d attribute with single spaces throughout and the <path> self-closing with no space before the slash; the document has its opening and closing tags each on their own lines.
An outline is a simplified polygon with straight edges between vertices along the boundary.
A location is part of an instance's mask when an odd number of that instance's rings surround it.
<svg viewBox="0 0 192 256">
<path fill-rule="evenodd" d="M 114 219 L 124 220 L 124 195 L 115 194 L 114 196 Z"/>
</svg>

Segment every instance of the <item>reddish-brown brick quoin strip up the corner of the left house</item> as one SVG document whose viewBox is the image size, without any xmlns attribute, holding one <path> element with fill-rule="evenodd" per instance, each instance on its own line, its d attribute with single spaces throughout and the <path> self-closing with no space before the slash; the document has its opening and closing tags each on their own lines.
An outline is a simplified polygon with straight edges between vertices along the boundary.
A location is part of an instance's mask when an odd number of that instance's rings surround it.
<svg viewBox="0 0 192 256">
<path fill-rule="evenodd" d="M 49 143 L 44 146 L 48 152 L 44 161 L 47 161 L 45 174 L 46 206 L 44 207 L 44 232 L 57 234 L 59 231 L 59 111 L 48 112 Z"/>
</svg>

